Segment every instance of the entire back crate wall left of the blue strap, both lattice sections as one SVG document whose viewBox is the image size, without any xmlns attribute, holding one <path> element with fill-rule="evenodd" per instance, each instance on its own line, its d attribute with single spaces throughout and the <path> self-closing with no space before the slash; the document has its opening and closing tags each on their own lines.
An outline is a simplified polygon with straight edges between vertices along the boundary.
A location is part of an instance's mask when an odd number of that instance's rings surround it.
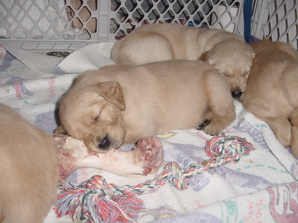
<svg viewBox="0 0 298 223">
<path fill-rule="evenodd" d="M 243 34 L 243 0 L 0 0 L 0 43 L 73 51 L 116 41 L 142 23 L 172 22 Z"/>
</svg>

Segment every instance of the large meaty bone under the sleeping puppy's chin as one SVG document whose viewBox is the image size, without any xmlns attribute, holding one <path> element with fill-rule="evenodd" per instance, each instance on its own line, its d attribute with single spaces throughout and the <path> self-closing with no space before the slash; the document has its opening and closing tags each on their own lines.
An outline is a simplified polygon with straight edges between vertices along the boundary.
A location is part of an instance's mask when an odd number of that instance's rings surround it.
<svg viewBox="0 0 298 223">
<path fill-rule="evenodd" d="M 55 135 L 60 154 L 59 182 L 76 169 L 89 167 L 137 178 L 153 173 L 162 164 L 162 143 L 155 137 L 141 139 L 131 151 L 110 150 L 107 153 L 91 153 L 82 141 L 71 136 Z"/>
</svg>

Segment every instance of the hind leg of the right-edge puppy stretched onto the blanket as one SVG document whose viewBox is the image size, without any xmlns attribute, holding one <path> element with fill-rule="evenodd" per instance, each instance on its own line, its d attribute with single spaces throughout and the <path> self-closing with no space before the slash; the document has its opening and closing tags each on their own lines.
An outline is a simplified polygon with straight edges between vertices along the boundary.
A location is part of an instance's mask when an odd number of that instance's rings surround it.
<svg viewBox="0 0 298 223">
<path fill-rule="evenodd" d="M 272 131 L 274 132 L 275 137 L 278 141 L 284 146 L 289 147 L 290 137 L 291 137 L 291 123 L 285 117 L 258 117 L 260 120 L 265 121 Z"/>
</svg>

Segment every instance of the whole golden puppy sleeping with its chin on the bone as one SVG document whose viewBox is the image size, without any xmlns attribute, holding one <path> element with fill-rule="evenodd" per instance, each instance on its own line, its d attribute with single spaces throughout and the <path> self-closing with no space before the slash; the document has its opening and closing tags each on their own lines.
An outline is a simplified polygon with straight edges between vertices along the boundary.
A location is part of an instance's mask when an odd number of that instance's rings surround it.
<svg viewBox="0 0 298 223">
<path fill-rule="evenodd" d="M 113 65 L 81 74 L 59 108 L 65 133 L 96 153 L 176 129 L 220 134 L 235 119 L 224 77 L 203 61 Z"/>
</svg>

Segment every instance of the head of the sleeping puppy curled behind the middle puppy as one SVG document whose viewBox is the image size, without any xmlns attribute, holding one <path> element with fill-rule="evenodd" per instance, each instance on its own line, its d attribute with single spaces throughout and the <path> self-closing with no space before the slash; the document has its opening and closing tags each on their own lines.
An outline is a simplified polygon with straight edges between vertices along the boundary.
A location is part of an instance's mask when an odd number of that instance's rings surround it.
<svg viewBox="0 0 298 223">
<path fill-rule="evenodd" d="M 246 88 L 254 55 L 248 44 L 230 39 L 216 44 L 201 59 L 221 72 L 229 84 L 232 97 L 238 100 Z"/>
</svg>

